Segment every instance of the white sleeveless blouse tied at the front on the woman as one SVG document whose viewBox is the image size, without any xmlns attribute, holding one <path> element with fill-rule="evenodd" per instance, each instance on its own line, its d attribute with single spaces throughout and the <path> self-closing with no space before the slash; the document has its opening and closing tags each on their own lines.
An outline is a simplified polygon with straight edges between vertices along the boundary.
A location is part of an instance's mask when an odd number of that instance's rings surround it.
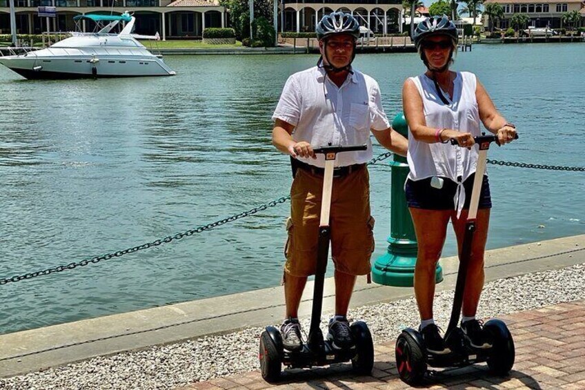
<svg viewBox="0 0 585 390">
<path fill-rule="evenodd" d="M 435 83 L 426 75 L 410 77 L 417 86 L 424 105 L 426 126 L 432 128 L 449 128 L 464 133 L 471 133 L 474 137 L 481 135 L 479 130 L 479 109 L 475 99 L 477 81 L 470 72 L 457 72 L 454 80 L 453 97 L 444 93 L 449 105 L 443 103 L 437 95 Z M 410 128 L 408 128 L 410 133 Z M 416 181 L 428 177 L 439 176 L 459 182 L 455 194 L 455 207 L 461 210 L 465 201 L 465 190 L 462 182 L 465 181 L 477 166 L 477 146 L 468 150 L 453 146 L 450 143 L 428 144 L 417 141 L 412 133 L 408 136 L 408 178 Z M 459 207 L 457 207 L 459 204 Z"/>
</svg>

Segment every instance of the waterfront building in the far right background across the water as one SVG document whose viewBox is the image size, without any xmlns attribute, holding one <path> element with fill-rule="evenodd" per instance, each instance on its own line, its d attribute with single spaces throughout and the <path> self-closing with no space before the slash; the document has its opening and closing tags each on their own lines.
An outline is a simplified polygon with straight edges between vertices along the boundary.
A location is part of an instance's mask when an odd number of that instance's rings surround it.
<svg viewBox="0 0 585 390">
<path fill-rule="evenodd" d="M 496 27 L 510 27 L 510 19 L 513 14 L 526 14 L 530 18 L 528 26 L 562 28 L 562 17 L 566 12 L 579 11 L 582 14 L 582 23 L 584 14 L 583 0 L 486 0 L 484 6 L 489 3 L 499 3 L 504 8 L 504 17 L 496 21 Z M 487 19 L 487 18 L 486 18 Z M 488 21 L 484 22 L 486 30 L 490 28 Z"/>
</svg>

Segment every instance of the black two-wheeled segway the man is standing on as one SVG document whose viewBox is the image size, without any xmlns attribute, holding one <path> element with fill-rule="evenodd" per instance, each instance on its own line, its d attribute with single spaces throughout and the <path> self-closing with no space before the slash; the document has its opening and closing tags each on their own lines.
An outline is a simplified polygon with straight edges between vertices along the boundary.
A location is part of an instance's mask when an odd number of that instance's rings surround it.
<svg viewBox="0 0 585 390">
<path fill-rule="evenodd" d="M 266 382 L 276 382 L 284 364 L 290 369 L 326 366 L 328 364 L 348 362 L 351 360 L 353 371 L 360 375 L 372 372 L 374 366 L 374 343 L 365 322 L 351 324 L 353 347 L 339 349 L 330 340 L 324 340 L 319 328 L 323 287 L 329 254 L 331 231 L 329 211 L 333 189 L 333 166 L 337 153 L 353 150 L 366 150 L 360 146 L 325 146 L 314 149 L 315 153 L 325 155 L 325 172 L 323 179 L 323 197 L 321 199 L 321 218 L 319 222 L 319 246 L 317 251 L 317 269 L 315 272 L 315 290 L 313 291 L 313 310 L 311 313 L 308 340 L 299 351 L 288 351 L 282 344 L 280 331 L 274 326 L 267 326 L 260 335 L 260 368 Z"/>
</svg>

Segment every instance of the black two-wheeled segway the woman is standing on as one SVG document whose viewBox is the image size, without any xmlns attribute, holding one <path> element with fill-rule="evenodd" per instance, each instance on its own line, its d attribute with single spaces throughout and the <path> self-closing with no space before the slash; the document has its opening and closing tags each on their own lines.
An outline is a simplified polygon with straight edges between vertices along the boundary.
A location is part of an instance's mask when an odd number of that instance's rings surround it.
<svg viewBox="0 0 585 390">
<path fill-rule="evenodd" d="M 477 158 L 477 169 L 475 170 L 475 179 L 473 181 L 462 252 L 459 257 L 453 310 L 445 332 L 445 343 L 450 352 L 444 354 L 430 353 L 426 350 L 422 335 L 418 331 L 410 328 L 404 329 L 396 340 L 396 365 L 400 379 L 410 385 L 422 382 L 428 366 L 442 368 L 465 367 L 470 364 L 487 362 L 490 371 L 498 376 L 505 376 L 514 365 L 514 341 L 503 321 L 494 319 L 484 324 L 484 330 L 490 336 L 491 342 L 491 347 L 485 349 L 472 347 L 462 329 L 458 326 L 463 304 L 467 264 L 470 259 L 471 244 L 475 232 L 479 193 L 482 189 L 482 180 L 486 171 L 486 155 L 491 142 L 497 142 L 497 136 L 484 134 L 474 137 L 474 139 L 479 146 L 479 157 Z M 457 145 L 457 140 L 451 139 L 451 144 Z"/>
</svg>

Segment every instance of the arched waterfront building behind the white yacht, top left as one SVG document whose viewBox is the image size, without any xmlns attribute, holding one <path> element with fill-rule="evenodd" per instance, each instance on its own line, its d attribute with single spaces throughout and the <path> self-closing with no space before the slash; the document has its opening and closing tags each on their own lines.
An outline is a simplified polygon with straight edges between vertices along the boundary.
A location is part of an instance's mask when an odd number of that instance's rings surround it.
<svg viewBox="0 0 585 390">
<path fill-rule="evenodd" d="M 37 7 L 54 6 L 57 17 L 37 16 Z M 8 0 L 0 0 L 0 34 L 10 34 Z M 225 27 L 226 8 L 217 0 L 14 0 L 18 34 L 66 32 L 75 30 L 73 17 L 79 14 L 121 14 L 126 10 L 136 17 L 137 34 L 162 39 L 201 38 L 207 27 Z M 47 28 L 49 22 L 49 28 Z M 84 31 L 92 31 L 90 22 Z"/>
</svg>

